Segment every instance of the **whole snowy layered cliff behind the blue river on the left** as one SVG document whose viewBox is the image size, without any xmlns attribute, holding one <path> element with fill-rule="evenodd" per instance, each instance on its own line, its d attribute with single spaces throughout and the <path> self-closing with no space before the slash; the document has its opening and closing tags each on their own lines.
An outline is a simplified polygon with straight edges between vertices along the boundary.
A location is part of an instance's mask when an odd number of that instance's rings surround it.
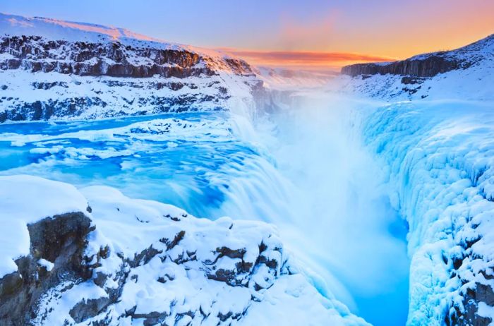
<svg viewBox="0 0 494 326">
<path fill-rule="evenodd" d="M 128 31 L 5 14 L 0 31 L 0 122 L 253 110 L 263 88 L 240 59 Z"/>
</svg>

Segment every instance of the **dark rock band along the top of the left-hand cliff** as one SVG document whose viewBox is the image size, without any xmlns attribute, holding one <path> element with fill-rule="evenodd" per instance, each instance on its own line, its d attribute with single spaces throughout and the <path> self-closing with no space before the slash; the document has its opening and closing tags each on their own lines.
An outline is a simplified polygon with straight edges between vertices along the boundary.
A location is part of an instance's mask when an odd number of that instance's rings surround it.
<svg viewBox="0 0 494 326">
<path fill-rule="evenodd" d="M 67 42 L 45 40 L 37 36 L 14 36 L 0 39 L 0 53 L 13 59 L 0 62 L 0 69 L 22 68 L 31 72 L 43 71 L 80 76 L 113 76 L 146 78 L 155 75 L 185 78 L 215 71 L 198 65 L 204 58 L 186 49 L 132 47 L 120 42 Z M 137 58 L 137 59 L 136 59 Z M 205 60 L 207 63 L 209 58 Z M 252 74 L 245 61 L 225 59 L 236 74 Z"/>
</svg>

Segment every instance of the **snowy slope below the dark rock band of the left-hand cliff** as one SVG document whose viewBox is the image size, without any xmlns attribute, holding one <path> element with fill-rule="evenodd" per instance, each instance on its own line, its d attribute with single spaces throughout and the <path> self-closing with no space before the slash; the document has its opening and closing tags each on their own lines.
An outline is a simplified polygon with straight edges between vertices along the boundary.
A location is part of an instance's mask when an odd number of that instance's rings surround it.
<svg viewBox="0 0 494 326">
<path fill-rule="evenodd" d="M 164 107 L 167 110 L 183 110 L 181 99 L 193 101 L 186 108 L 188 111 L 215 111 L 217 109 L 242 109 L 249 111 L 253 106 L 253 98 L 249 83 L 255 81 L 253 77 L 234 76 L 222 72 L 219 75 L 188 78 L 114 78 L 69 76 L 61 73 L 31 73 L 20 69 L 0 71 L 2 85 L 6 90 L 0 90 L 0 112 L 22 106 L 24 103 L 62 103 L 73 99 L 86 98 L 90 103 L 80 113 L 67 117 L 54 114 L 52 119 L 97 119 L 109 116 L 124 116 L 135 114 L 159 114 Z M 55 85 L 48 90 L 37 89 L 34 83 L 64 83 L 66 87 Z M 246 83 L 244 83 L 246 82 Z M 112 86 L 119 83 L 119 87 Z M 180 90 L 171 90 L 162 87 L 157 90 L 157 83 L 183 83 Z M 219 87 L 225 87 L 229 97 L 219 95 Z M 140 99 L 149 101 L 140 102 Z M 163 105 L 153 104 L 152 99 L 164 99 Z M 236 102 L 235 102 L 236 101 Z M 234 106 L 235 103 L 239 105 Z M 167 104 L 169 103 L 169 104 Z"/>
</svg>

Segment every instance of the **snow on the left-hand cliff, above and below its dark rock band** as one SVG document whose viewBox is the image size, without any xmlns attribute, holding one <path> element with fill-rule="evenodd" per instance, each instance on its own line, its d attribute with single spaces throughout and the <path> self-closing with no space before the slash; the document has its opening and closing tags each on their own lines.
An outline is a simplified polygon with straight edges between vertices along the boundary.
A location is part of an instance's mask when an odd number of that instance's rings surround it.
<svg viewBox="0 0 494 326">
<path fill-rule="evenodd" d="M 1 70 L 0 113 L 21 110 L 23 106 L 37 103 L 42 107 L 54 107 L 51 119 L 68 119 L 66 107 L 74 102 L 83 102 L 80 109 L 71 110 L 71 119 L 98 119 L 109 116 L 135 114 L 158 114 L 164 111 L 215 111 L 231 109 L 236 114 L 253 114 L 255 101 L 253 87 L 260 80 L 243 61 L 209 49 L 199 49 L 179 44 L 171 44 L 137 35 L 121 28 L 105 27 L 88 23 L 74 23 L 49 18 L 25 18 L 0 13 L 0 36 L 37 35 L 41 39 L 29 40 L 30 46 L 44 51 L 44 42 L 66 40 L 50 50 L 50 57 L 28 56 L 25 61 L 56 64 L 64 62 L 75 64 L 74 52 L 81 51 L 78 41 L 94 43 L 121 42 L 132 46 L 124 50 L 129 64 L 154 66 L 150 58 L 139 54 L 140 49 L 175 49 L 199 54 L 199 61 L 193 71 L 208 69 L 214 73 L 200 73 L 199 76 L 170 78 L 153 76 L 150 78 L 112 78 L 100 76 L 67 75 L 63 73 L 32 73 L 25 71 L 23 64 L 15 70 Z M 103 45 L 104 46 L 104 45 Z M 8 66 L 12 54 L 0 54 L 0 63 Z M 102 56 L 88 61 L 78 62 L 82 67 L 95 65 L 102 61 L 102 67 L 114 62 Z M 233 64 L 232 64 L 233 63 Z M 238 65 L 238 66 L 236 66 Z M 164 63 L 162 66 L 170 66 Z M 173 66 L 173 65 L 171 65 Z M 240 67 L 240 68 L 239 68 Z M 44 83 L 44 84 L 43 84 Z M 182 85 L 178 90 L 169 87 L 170 83 Z M 36 85 L 45 85 L 36 87 Z M 48 87 L 47 89 L 44 89 Z M 226 91 L 225 91 L 226 90 Z M 76 104 L 77 107 L 77 104 Z M 61 111 L 61 112 L 59 112 Z M 32 119 L 27 117 L 26 119 Z"/>
</svg>

